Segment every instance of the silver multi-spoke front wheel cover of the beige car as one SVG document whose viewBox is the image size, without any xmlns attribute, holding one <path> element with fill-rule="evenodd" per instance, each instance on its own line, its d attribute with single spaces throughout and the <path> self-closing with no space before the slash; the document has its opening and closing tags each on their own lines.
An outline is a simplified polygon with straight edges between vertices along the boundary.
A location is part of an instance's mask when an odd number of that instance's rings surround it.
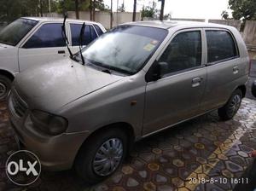
<svg viewBox="0 0 256 191">
<path fill-rule="evenodd" d="M 109 139 L 97 150 L 93 170 L 99 176 L 108 176 L 119 166 L 123 156 L 123 143 L 118 138 Z"/>
</svg>

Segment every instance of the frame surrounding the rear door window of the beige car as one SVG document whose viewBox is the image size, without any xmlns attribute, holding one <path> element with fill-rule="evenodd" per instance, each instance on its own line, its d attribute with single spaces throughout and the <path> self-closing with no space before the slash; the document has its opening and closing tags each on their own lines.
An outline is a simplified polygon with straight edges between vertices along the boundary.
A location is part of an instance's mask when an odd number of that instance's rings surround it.
<svg viewBox="0 0 256 191">
<path fill-rule="evenodd" d="M 226 58 L 226 59 L 223 59 L 223 60 L 219 60 L 219 61 L 212 61 L 212 62 L 208 62 L 208 44 L 207 44 L 207 31 L 220 31 L 220 32 L 228 32 L 230 34 L 230 37 L 233 39 L 233 42 L 235 43 L 235 46 L 236 46 L 236 53 L 237 55 L 236 56 L 233 56 L 233 57 L 230 57 L 230 58 Z M 236 38 L 234 36 L 234 34 L 232 32 L 230 32 L 230 30 L 226 29 L 226 28 L 203 28 L 203 32 L 204 32 L 204 37 L 205 37 L 205 42 L 206 42 L 206 67 L 208 66 L 213 66 L 213 65 L 216 65 L 216 64 L 220 64 L 220 63 L 223 63 L 223 62 L 226 62 L 226 61 L 232 61 L 232 60 L 236 60 L 237 58 L 240 58 L 240 51 L 239 51 L 239 48 L 238 48 L 238 45 L 237 45 L 237 42 L 236 42 Z"/>
</svg>

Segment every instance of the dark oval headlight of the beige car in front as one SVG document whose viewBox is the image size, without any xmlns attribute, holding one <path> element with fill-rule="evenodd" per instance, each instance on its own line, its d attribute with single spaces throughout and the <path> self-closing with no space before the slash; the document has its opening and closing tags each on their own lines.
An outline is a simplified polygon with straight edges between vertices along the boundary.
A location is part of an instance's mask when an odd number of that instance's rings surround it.
<svg viewBox="0 0 256 191">
<path fill-rule="evenodd" d="M 33 110 L 31 120 L 35 128 L 49 135 L 56 136 L 67 130 L 67 119 L 54 114 Z"/>
</svg>

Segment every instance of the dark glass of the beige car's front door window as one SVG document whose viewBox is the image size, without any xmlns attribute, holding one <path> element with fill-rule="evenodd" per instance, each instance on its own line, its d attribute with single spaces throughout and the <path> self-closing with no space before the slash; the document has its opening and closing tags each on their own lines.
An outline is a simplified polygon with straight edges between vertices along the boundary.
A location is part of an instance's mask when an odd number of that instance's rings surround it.
<svg viewBox="0 0 256 191">
<path fill-rule="evenodd" d="M 166 64 L 162 75 L 201 66 L 201 32 L 177 34 L 161 55 L 160 62 Z"/>
</svg>

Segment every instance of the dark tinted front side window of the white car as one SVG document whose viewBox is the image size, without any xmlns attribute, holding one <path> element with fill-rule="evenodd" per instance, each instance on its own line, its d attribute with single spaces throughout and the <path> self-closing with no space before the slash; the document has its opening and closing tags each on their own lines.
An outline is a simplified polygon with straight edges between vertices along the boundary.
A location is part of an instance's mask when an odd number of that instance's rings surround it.
<svg viewBox="0 0 256 191">
<path fill-rule="evenodd" d="M 44 24 L 23 47 L 26 49 L 35 49 L 65 46 L 65 41 L 61 35 L 61 25 L 61 23 Z"/>
</svg>

